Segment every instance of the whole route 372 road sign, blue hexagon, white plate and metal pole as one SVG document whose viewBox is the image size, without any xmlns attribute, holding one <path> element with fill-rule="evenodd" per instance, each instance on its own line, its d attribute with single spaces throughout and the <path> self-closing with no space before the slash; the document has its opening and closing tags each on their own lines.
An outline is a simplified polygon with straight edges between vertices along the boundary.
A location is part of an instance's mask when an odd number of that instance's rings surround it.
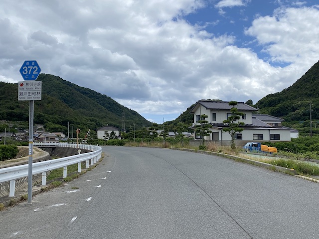
<svg viewBox="0 0 319 239">
<path fill-rule="evenodd" d="M 42 82 L 35 81 L 41 69 L 36 61 L 24 61 L 20 74 L 24 81 L 19 82 L 18 101 L 29 101 L 29 160 L 28 160 L 28 204 L 32 203 L 32 161 L 33 161 L 33 112 L 34 100 L 41 100 Z M 39 83 L 39 84 L 38 84 Z"/>
</svg>

